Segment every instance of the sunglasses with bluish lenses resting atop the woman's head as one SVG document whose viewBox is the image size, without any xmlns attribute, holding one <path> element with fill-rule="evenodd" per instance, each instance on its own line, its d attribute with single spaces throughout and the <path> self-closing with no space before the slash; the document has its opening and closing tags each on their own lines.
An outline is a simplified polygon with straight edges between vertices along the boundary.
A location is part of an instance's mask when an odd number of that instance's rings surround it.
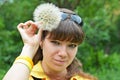
<svg viewBox="0 0 120 80">
<path fill-rule="evenodd" d="M 79 17 L 76 14 L 68 14 L 65 12 L 61 12 L 61 17 L 62 17 L 63 21 L 66 19 L 70 19 L 70 20 L 74 21 L 75 23 L 77 23 L 78 25 L 80 25 L 81 27 L 83 26 L 83 21 L 82 21 L 81 17 Z"/>
</svg>

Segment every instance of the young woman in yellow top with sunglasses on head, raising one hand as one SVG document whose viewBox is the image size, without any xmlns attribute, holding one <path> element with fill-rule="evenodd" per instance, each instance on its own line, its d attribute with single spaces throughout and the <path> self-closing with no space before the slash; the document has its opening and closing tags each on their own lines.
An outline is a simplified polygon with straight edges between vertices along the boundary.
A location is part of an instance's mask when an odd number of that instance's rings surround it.
<svg viewBox="0 0 120 80">
<path fill-rule="evenodd" d="M 24 46 L 3 80 L 96 80 L 82 71 L 75 57 L 84 40 L 81 18 L 68 9 L 61 14 L 52 31 L 38 30 L 32 21 L 18 25 Z"/>
</svg>

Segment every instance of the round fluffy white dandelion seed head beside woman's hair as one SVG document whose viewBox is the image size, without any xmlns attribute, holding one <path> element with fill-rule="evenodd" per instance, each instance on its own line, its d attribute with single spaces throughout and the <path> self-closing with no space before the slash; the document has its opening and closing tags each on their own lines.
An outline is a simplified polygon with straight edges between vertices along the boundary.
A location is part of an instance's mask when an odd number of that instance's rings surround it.
<svg viewBox="0 0 120 80">
<path fill-rule="evenodd" d="M 59 8 L 52 3 L 45 3 L 35 9 L 33 18 L 38 28 L 51 31 L 58 27 L 61 21 L 61 13 Z M 42 25 L 40 23 L 42 23 Z"/>
</svg>

